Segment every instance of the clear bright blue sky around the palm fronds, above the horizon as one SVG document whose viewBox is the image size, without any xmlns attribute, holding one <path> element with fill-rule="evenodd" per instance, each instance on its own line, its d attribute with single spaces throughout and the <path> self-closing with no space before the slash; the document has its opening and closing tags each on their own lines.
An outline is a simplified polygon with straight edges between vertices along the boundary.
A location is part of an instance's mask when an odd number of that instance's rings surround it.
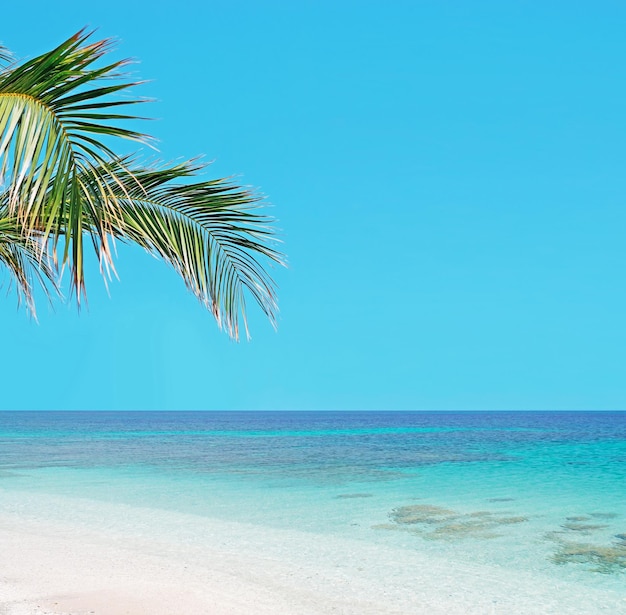
<svg viewBox="0 0 626 615">
<path fill-rule="evenodd" d="M 623 2 L 35 0 L 0 40 L 85 25 L 163 158 L 268 196 L 279 328 L 231 342 L 121 248 L 80 314 L 0 302 L 2 409 L 626 407 Z"/>
</svg>

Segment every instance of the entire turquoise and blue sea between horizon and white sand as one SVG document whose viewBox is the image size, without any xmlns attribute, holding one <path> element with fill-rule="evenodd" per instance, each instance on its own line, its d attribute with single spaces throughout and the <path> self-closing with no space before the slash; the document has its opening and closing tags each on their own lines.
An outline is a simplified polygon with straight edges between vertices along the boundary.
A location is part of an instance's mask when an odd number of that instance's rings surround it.
<svg viewBox="0 0 626 615">
<path fill-rule="evenodd" d="M 0 514 L 96 524 L 106 507 L 348 537 L 626 597 L 626 413 L 0 413 Z"/>
</svg>

